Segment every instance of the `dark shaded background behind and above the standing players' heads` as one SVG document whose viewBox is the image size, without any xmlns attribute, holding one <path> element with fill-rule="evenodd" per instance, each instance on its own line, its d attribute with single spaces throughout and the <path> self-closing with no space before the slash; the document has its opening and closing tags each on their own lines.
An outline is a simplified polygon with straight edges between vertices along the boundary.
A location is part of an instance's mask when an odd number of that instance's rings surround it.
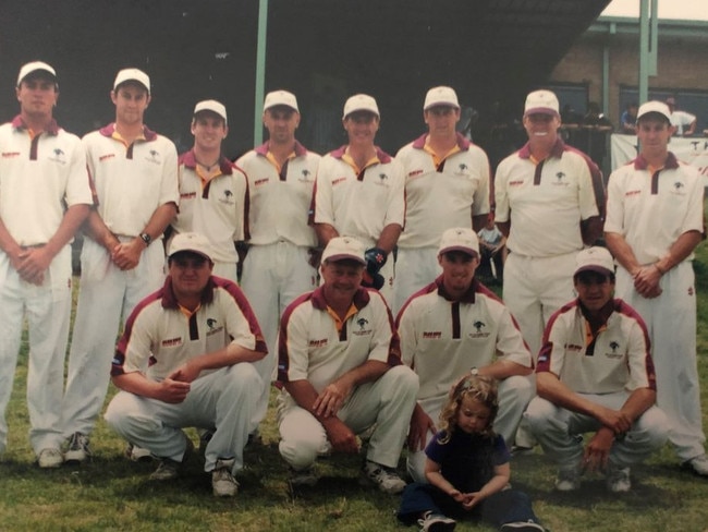
<svg viewBox="0 0 708 532">
<path fill-rule="evenodd" d="M 301 138 L 324 150 L 343 142 L 344 99 L 374 95 L 379 144 L 395 152 L 424 129 L 425 92 L 456 88 L 479 112 L 475 138 L 518 117 L 609 0 L 270 0 L 266 89 L 286 87 L 303 114 Z M 57 116 L 84 134 L 113 118 L 109 90 L 123 66 L 151 77 L 147 123 L 192 144 L 194 104 L 222 100 L 227 153 L 252 147 L 257 0 L 5 0 L 0 15 L 0 119 L 16 112 L 20 65 L 59 72 Z M 495 104 L 497 102 L 497 104 Z"/>
</svg>

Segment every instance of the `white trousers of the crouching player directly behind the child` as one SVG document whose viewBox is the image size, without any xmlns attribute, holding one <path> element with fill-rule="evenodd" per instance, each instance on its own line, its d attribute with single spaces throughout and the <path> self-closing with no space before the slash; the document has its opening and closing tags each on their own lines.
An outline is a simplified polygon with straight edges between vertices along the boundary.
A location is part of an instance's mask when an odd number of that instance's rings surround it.
<svg viewBox="0 0 708 532">
<path fill-rule="evenodd" d="M 513 375 L 503 380 L 499 380 L 499 412 L 495 420 L 493 430 L 497 434 L 504 438 L 506 446 L 511 448 L 514 442 L 514 434 L 516 427 L 526 410 L 526 406 L 536 395 L 536 377 L 534 375 Z M 428 401 L 425 406 L 422 403 L 423 410 L 436 423 L 440 421 L 440 411 L 448 402 L 448 396 L 436 398 L 434 401 Z M 426 447 L 435 435 L 428 433 L 426 439 Z M 425 477 L 425 449 L 408 449 L 408 459 L 406 468 L 408 474 L 415 482 L 427 484 L 428 480 Z"/>
</svg>

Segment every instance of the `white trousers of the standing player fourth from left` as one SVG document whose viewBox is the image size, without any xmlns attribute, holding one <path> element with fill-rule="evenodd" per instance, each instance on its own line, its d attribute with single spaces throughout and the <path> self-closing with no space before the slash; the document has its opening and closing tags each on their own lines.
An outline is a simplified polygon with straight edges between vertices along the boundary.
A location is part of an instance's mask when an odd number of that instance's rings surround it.
<svg viewBox="0 0 708 532">
<path fill-rule="evenodd" d="M 307 250 L 285 241 L 252 245 L 243 262 L 241 289 L 268 346 L 268 354 L 254 363 L 264 383 L 256 411 L 259 420 L 268 410 L 270 383 L 276 376 L 280 316 L 295 298 L 317 288 L 317 270 L 307 262 Z"/>
</svg>

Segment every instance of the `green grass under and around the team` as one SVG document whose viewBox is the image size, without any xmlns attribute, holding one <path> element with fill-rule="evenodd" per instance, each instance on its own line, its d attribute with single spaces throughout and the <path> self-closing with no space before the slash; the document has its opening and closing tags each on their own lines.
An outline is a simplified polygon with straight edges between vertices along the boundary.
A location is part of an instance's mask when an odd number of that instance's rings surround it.
<svg viewBox="0 0 708 532">
<path fill-rule="evenodd" d="M 695 269 L 698 366 L 708 427 L 707 244 L 698 250 Z M 239 477 L 235 499 L 212 497 L 210 479 L 196 456 L 178 481 L 149 482 L 155 466 L 123 458 L 123 443 L 102 420 L 91 437 L 95 457 L 89 463 L 39 470 L 27 439 L 26 372 L 24 342 L 8 408 L 8 450 L 0 461 L 0 531 L 415 530 L 396 523 L 398 497 L 358 485 L 355 457 L 322 461 L 319 484 L 293 492 L 278 454 L 272 409 L 261 428 L 264 445 L 246 450 L 246 470 Z M 190 435 L 197 440 L 195 433 Z M 512 461 L 512 483 L 530 495 L 550 531 L 708 531 L 708 480 L 681 472 L 669 447 L 632 473 L 633 491 L 625 495 L 608 494 L 599 475 L 585 479 L 578 493 L 559 494 L 552 489 L 554 469 L 539 450 Z M 460 523 L 457 530 L 492 529 Z"/>
</svg>

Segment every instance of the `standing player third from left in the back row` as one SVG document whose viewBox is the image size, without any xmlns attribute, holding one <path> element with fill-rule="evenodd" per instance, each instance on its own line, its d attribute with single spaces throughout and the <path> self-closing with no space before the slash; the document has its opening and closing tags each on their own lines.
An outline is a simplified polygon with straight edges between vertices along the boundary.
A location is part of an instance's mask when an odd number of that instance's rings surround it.
<svg viewBox="0 0 708 532">
<path fill-rule="evenodd" d="M 239 254 L 234 242 L 247 234 L 246 176 L 221 155 L 229 133 L 227 108 L 217 100 L 194 107 L 194 147 L 179 159 L 180 211 L 176 233 L 198 232 L 209 239 L 213 275 L 237 281 Z"/>
</svg>

